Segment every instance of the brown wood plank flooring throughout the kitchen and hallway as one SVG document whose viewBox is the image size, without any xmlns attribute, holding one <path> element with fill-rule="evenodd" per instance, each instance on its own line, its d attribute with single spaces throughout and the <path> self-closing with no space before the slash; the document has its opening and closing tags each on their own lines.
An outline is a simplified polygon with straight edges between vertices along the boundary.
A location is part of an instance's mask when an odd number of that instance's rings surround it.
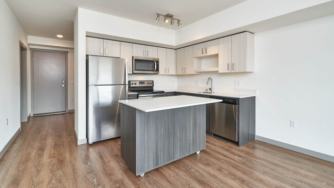
<svg viewBox="0 0 334 188">
<path fill-rule="evenodd" d="M 207 135 L 207 148 L 144 177 L 120 139 L 77 145 L 74 114 L 39 116 L 0 159 L 0 187 L 334 187 L 334 163 L 261 141 L 242 147 Z"/>
</svg>

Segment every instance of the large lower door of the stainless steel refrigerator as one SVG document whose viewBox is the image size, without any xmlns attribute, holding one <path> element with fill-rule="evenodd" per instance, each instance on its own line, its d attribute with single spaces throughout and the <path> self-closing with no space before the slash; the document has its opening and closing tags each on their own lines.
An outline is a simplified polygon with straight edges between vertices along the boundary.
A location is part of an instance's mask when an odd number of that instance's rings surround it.
<svg viewBox="0 0 334 188">
<path fill-rule="evenodd" d="M 88 87 L 88 143 L 121 136 L 120 106 L 126 99 L 127 85 Z"/>
</svg>

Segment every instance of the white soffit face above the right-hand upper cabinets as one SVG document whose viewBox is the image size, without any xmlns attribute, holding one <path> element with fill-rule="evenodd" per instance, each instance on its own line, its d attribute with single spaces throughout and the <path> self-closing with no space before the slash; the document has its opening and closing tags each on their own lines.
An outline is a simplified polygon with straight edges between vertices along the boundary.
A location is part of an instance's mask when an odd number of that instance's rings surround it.
<svg viewBox="0 0 334 188">
<path fill-rule="evenodd" d="M 329 1 L 330 0 L 248 0 L 177 29 L 175 33 L 176 46 L 219 33 L 226 32 L 225 35 L 229 35 L 235 32 L 242 32 L 245 31 L 243 27 L 250 26 L 251 24 Z M 270 24 L 273 25 L 276 23 Z M 238 28 L 243 29 L 238 30 Z"/>
</svg>

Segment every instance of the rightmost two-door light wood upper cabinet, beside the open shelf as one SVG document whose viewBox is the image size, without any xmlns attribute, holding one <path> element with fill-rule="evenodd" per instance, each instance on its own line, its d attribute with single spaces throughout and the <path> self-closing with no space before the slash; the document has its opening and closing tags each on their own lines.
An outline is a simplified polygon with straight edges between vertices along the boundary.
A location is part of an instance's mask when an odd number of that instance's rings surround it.
<svg viewBox="0 0 334 188">
<path fill-rule="evenodd" d="M 219 39 L 218 72 L 254 72 L 254 34 Z"/>
</svg>

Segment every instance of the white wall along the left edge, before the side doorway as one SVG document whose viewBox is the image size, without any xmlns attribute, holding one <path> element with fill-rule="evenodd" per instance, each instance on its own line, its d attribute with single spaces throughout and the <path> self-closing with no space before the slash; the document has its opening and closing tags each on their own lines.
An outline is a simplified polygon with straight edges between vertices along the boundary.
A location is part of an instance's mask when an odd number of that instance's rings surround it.
<svg viewBox="0 0 334 188">
<path fill-rule="evenodd" d="M 28 46 L 27 34 L 4 0 L 0 0 L 0 151 L 21 125 L 20 42 Z M 28 57 L 27 57 L 28 59 Z M 8 118 L 8 126 L 6 126 Z"/>
</svg>

